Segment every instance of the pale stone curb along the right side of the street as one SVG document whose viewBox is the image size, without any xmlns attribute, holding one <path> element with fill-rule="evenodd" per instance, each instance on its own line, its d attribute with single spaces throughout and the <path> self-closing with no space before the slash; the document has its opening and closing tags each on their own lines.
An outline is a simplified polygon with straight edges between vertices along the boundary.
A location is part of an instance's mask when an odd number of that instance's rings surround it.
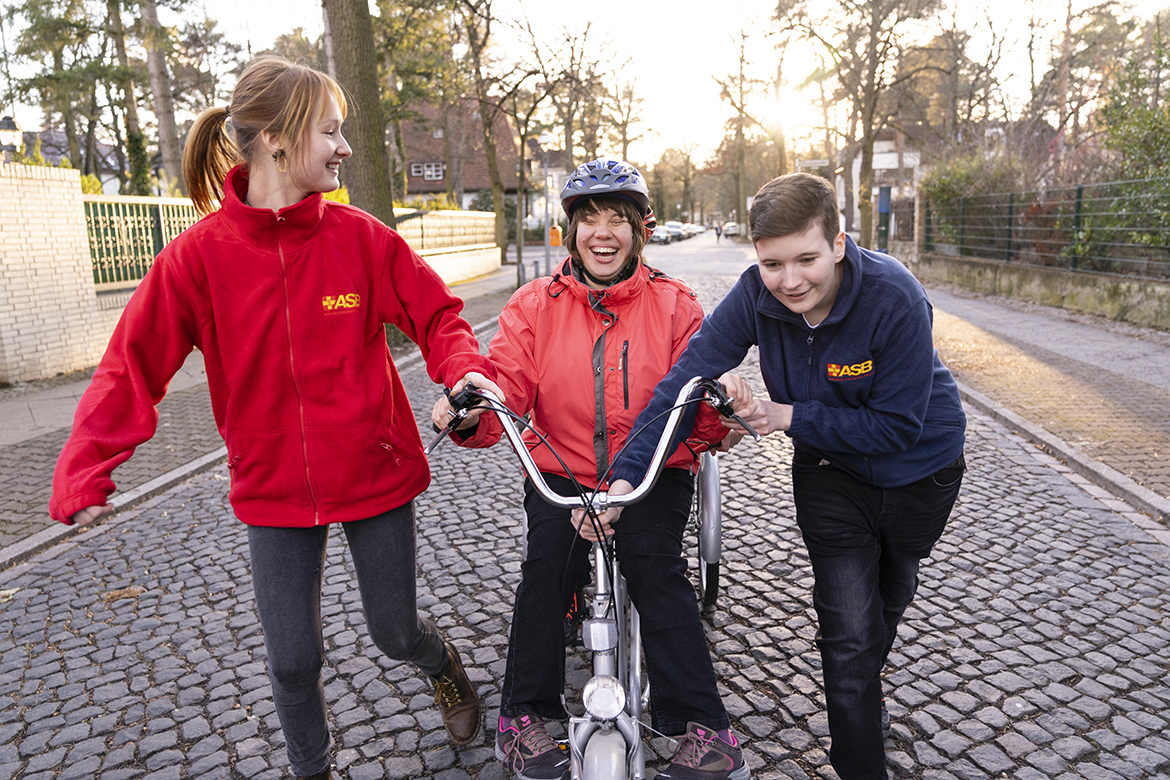
<svg viewBox="0 0 1170 780">
<path fill-rule="evenodd" d="M 1090 482 L 1117 495 L 1136 509 L 1140 509 L 1143 512 L 1149 512 L 1154 516 L 1154 519 L 1147 520 L 1145 523 L 1135 522 L 1135 525 L 1138 525 L 1144 530 L 1166 531 L 1168 525 L 1170 525 L 1170 501 L 1163 498 L 1148 488 L 1143 488 L 1121 471 L 1112 469 L 1104 463 L 1094 461 L 1093 458 L 1078 453 L 1065 441 L 1053 436 L 1040 426 L 1028 422 L 1011 409 L 996 403 L 983 393 L 972 389 L 962 382 L 956 384 L 958 385 L 959 395 L 964 401 L 999 421 L 1005 427 L 1020 434 L 1034 444 L 1039 444 L 1047 450 L 1049 455 L 1065 461 L 1065 463 L 1068 464 L 1068 468 L 1086 477 Z"/>
</svg>

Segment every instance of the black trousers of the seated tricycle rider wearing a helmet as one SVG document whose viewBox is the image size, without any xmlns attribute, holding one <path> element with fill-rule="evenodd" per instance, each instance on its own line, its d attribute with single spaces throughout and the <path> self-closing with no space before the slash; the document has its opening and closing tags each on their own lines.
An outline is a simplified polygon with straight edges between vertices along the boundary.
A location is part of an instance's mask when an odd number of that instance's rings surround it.
<svg viewBox="0 0 1170 780">
<path fill-rule="evenodd" d="M 545 474 L 544 478 L 555 491 L 573 495 L 565 477 Z M 653 725 L 667 734 L 686 732 L 690 722 L 710 729 L 730 725 L 715 689 L 698 601 L 682 558 L 694 485 L 684 469 L 666 469 L 654 490 L 627 506 L 614 525 L 621 573 L 642 621 Z M 500 713 L 534 712 L 563 719 L 567 717 L 560 700 L 565 690 L 563 620 L 589 568 L 591 545 L 577 537 L 569 510 L 548 504 L 528 481 L 524 510 L 528 558 L 516 591 Z"/>
</svg>

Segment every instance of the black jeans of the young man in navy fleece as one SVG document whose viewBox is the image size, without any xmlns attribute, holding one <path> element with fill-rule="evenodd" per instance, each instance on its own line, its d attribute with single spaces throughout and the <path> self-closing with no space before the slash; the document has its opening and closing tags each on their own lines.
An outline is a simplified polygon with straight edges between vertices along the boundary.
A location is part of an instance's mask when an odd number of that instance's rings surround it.
<svg viewBox="0 0 1170 780">
<path fill-rule="evenodd" d="M 881 670 L 918 587 L 918 561 L 947 526 L 957 461 L 902 488 L 866 484 L 819 458 L 792 458 L 797 524 L 813 570 L 832 747 L 841 780 L 885 780 Z"/>
</svg>

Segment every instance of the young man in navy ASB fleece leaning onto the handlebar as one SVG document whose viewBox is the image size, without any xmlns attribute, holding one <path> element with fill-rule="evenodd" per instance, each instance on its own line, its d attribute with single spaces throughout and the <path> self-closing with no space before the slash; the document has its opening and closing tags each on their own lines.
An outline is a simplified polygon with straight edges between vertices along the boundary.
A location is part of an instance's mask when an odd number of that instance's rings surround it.
<svg viewBox="0 0 1170 780">
<path fill-rule="evenodd" d="M 752 398 L 737 375 L 723 382 L 757 432 L 792 439 L 830 760 L 841 780 L 881 780 L 881 669 L 914 599 L 918 561 L 958 496 L 966 419 L 934 348 L 925 290 L 896 260 L 841 232 L 827 181 L 773 179 L 756 194 L 749 223 L 759 262 L 703 322 L 634 430 L 668 408 L 687 379 L 721 377 L 759 346 L 768 398 Z M 661 424 L 618 460 L 612 493 L 641 482 Z"/>
</svg>

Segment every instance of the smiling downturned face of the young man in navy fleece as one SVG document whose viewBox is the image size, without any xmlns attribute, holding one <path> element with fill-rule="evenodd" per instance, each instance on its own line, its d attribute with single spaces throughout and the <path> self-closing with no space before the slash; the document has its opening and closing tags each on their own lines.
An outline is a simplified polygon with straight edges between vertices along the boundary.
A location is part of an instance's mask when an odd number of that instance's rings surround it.
<svg viewBox="0 0 1170 780">
<path fill-rule="evenodd" d="M 845 234 L 830 243 L 817 222 L 801 233 L 756 242 L 759 276 L 764 287 L 790 311 L 819 325 L 833 309 L 845 272 Z"/>
</svg>

